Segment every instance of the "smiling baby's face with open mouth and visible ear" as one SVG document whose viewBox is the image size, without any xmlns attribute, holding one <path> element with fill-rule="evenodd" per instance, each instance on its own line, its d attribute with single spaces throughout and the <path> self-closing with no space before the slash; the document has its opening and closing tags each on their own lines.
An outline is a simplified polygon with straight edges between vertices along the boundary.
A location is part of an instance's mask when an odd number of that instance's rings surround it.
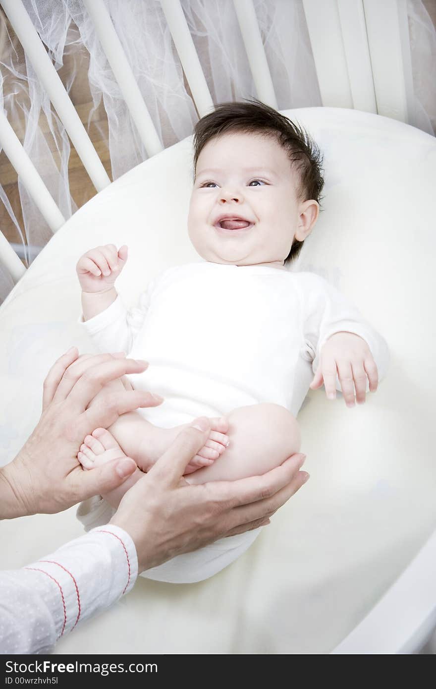
<svg viewBox="0 0 436 689">
<path fill-rule="evenodd" d="M 212 263 L 282 267 L 293 238 L 302 241 L 318 216 L 300 202 L 298 178 L 284 149 L 259 134 L 212 139 L 198 157 L 188 232 Z"/>
</svg>

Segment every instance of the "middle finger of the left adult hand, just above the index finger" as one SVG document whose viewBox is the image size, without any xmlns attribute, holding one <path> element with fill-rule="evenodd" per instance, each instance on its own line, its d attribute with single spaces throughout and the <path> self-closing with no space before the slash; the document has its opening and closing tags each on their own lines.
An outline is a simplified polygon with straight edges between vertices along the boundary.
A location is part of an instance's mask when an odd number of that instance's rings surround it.
<svg viewBox="0 0 436 689">
<path fill-rule="evenodd" d="M 142 373 L 148 364 L 146 361 L 114 358 L 87 367 L 81 377 L 74 382 L 68 402 L 75 411 L 84 411 L 96 394 L 107 382 L 125 376 L 126 373 Z"/>
</svg>

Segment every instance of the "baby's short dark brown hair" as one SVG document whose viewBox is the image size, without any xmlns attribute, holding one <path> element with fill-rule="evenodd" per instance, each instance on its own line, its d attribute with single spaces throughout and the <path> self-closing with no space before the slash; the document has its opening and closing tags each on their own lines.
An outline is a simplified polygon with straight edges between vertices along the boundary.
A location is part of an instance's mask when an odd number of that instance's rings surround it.
<svg viewBox="0 0 436 689">
<path fill-rule="evenodd" d="M 313 198 L 320 203 L 324 178 L 322 177 L 322 153 L 318 145 L 303 127 L 281 115 L 273 107 L 257 99 L 244 103 L 220 103 L 214 112 L 202 117 L 194 127 L 194 177 L 198 156 L 213 138 L 244 132 L 271 136 L 287 151 L 291 166 L 300 176 L 297 194 L 300 200 Z M 284 263 L 291 263 L 302 249 L 304 241 L 294 240 Z"/>
</svg>

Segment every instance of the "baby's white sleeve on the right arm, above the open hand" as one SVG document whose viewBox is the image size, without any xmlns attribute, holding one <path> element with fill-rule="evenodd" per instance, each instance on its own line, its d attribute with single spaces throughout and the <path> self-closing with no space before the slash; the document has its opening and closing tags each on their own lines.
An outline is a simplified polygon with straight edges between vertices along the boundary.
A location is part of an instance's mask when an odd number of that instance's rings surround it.
<svg viewBox="0 0 436 689">
<path fill-rule="evenodd" d="M 346 331 L 365 340 L 375 364 L 379 381 L 386 376 L 390 355 L 386 340 L 366 321 L 360 311 L 333 285 L 313 273 L 300 273 L 297 284 L 302 301 L 304 347 L 312 359 L 313 373 L 318 369 L 320 352 L 333 333 Z M 338 376 L 336 388 L 341 391 Z M 366 380 L 366 392 L 369 382 Z"/>
</svg>

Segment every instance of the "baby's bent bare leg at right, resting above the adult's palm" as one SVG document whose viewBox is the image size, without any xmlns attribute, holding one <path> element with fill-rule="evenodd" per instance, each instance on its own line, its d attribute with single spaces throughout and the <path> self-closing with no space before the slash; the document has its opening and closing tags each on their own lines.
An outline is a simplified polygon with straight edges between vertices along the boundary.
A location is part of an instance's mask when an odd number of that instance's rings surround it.
<svg viewBox="0 0 436 689">
<path fill-rule="evenodd" d="M 300 425 L 279 404 L 253 404 L 227 414 L 230 444 L 214 464 L 185 477 L 189 483 L 261 475 L 300 451 Z"/>
</svg>

